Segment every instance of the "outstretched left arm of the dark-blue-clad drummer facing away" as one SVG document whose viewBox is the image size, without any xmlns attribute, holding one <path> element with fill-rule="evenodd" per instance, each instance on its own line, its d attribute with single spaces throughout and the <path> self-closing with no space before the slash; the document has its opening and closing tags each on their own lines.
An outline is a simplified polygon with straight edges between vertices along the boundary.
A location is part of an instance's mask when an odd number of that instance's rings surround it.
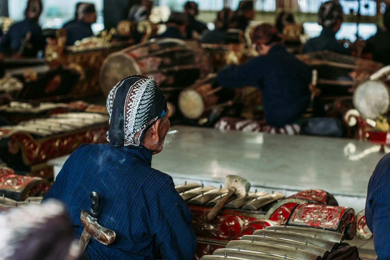
<svg viewBox="0 0 390 260">
<path fill-rule="evenodd" d="M 255 57 L 243 65 L 228 65 L 218 72 L 218 85 L 223 88 L 259 87 L 264 66 L 263 57 Z"/>
</svg>

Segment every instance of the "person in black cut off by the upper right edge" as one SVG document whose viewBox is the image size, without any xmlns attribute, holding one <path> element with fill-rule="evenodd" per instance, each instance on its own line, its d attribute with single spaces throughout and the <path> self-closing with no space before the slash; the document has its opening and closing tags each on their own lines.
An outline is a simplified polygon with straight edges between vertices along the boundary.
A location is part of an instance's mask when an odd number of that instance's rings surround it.
<svg viewBox="0 0 390 260">
<path fill-rule="evenodd" d="M 390 65 L 390 7 L 383 14 L 383 25 L 385 28 L 366 41 L 363 53 L 371 53 L 374 61 Z"/>
</svg>

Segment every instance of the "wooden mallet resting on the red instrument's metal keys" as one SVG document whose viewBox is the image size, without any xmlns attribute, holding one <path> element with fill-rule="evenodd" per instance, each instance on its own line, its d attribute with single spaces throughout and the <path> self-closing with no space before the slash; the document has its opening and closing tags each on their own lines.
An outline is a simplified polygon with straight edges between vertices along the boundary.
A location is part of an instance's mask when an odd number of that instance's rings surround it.
<svg viewBox="0 0 390 260">
<path fill-rule="evenodd" d="M 225 188 L 229 189 L 229 192 L 207 214 L 208 221 L 213 220 L 218 215 L 233 194 L 237 194 L 240 198 L 246 196 L 250 189 L 250 183 L 237 175 L 227 175 L 225 178 Z"/>
</svg>

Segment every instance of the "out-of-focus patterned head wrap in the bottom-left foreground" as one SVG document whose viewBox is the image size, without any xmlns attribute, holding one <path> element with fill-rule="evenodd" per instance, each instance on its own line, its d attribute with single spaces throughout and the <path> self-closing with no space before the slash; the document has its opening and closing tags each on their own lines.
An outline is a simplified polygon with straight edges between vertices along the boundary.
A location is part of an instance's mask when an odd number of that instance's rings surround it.
<svg viewBox="0 0 390 260">
<path fill-rule="evenodd" d="M 0 260 L 80 260 L 65 207 L 44 202 L 0 208 Z"/>
</svg>

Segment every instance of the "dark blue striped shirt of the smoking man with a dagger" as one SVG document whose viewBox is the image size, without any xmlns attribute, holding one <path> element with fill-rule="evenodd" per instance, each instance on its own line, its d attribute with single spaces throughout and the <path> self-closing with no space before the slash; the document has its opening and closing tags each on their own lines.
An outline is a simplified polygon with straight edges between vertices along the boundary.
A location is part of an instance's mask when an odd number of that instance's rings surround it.
<svg viewBox="0 0 390 260">
<path fill-rule="evenodd" d="M 116 233 L 113 244 L 94 239 L 87 248 L 91 260 L 192 260 L 197 240 L 192 213 L 177 193 L 172 178 L 151 168 L 145 147 L 87 144 L 76 149 L 58 174 L 44 200 L 67 205 L 77 237 L 83 230 L 82 209 L 89 210 L 89 193 L 101 196 L 99 224 Z"/>
</svg>

